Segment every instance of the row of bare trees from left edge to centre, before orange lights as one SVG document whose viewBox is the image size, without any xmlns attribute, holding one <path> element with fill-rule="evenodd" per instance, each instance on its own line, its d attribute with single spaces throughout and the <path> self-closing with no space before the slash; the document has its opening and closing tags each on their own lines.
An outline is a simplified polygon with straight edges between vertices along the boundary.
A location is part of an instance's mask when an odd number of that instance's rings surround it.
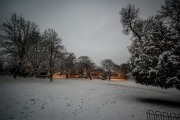
<svg viewBox="0 0 180 120">
<path fill-rule="evenodd" d="M 16 13 L 0 25 L 0 45 L 0 70 L 9 71 L 14 78 L 48 74 L 52 82 L 54 73 L 66 74 L 68 78 L 71 74 L 81 76 L 85 72 L 90 79 L 92 74 L 103 74 L 110 80 L 118 71 L 127 78 L 126 64 L 118 66 L 111 59 L 105 59 L 97 66 L 88 56 L 76 58 L 74 53 L 67 52 L 54 29 L 41 33 L 37 24 Z"/>
</svg>

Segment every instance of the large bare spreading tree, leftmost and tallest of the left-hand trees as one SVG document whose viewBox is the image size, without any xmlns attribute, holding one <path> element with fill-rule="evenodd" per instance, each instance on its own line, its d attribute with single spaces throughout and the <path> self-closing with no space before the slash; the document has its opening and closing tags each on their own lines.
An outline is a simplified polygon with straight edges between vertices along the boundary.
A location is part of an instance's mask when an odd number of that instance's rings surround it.
<svg viewBox="0 0 180 120">
<path fill-rule="evenodd" d="M 14 78 L 19 73 L 24 62 L 24 56 L 29 48 L 30 36 L 38 30 L 35 23 L 26 21 L 22 16 L 12 14 L 10 20 L 7 20 L 0 26 L 0 44 L 5 48 L 8 54 L 17 58 L 17 69 L 14 72 Z"/>
</svg>

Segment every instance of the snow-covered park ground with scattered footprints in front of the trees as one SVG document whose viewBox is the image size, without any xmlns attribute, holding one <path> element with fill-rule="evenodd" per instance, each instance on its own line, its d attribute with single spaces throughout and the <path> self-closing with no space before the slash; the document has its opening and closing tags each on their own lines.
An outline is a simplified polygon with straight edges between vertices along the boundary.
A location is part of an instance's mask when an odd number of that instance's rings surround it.
<svg viewBox="0 0 180 120">
<path fill-rule="evenodd" d="M 180 91 L 133 81 L 0 76 L 0 120 L 146 120 L 180 113 Z"/>
</svg>

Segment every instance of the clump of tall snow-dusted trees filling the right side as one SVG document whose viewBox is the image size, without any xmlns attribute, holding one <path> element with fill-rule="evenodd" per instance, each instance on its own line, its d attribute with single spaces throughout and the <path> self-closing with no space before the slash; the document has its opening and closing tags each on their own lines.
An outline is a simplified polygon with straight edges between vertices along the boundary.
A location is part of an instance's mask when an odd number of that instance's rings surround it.
<svg viewBox="0 0 180 120">
<path fill-rule="evenodd" d="M 129 71 L 137 83 L 180 90 L 180 1 L 165 0 L 146 20 L 139 15 L 131 4 L 120 11 L 122 32 L 132 35 Z"/>
</svg>

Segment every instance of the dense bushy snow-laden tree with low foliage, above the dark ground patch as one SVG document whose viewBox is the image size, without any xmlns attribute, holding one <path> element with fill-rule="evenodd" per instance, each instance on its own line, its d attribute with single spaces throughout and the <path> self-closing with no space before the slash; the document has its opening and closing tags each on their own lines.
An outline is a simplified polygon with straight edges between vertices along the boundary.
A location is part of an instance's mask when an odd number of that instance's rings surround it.
<svg viewBox="0 0 180 120">
<path fill-rule="evenodd" d="M 170 80 L 177 76 L 178 64 L 174 45 L 177 40 L 163 22 L 155 21 L 151 33 L 143 42 L 142 53 L 130 61 L 132 74 L 136 82 L 162 88 L 174 87 Z M 130 48 L 129 48 L 130 49 Z M 175 61 L 174 61 L 175 60 Z"/>
</svg>

